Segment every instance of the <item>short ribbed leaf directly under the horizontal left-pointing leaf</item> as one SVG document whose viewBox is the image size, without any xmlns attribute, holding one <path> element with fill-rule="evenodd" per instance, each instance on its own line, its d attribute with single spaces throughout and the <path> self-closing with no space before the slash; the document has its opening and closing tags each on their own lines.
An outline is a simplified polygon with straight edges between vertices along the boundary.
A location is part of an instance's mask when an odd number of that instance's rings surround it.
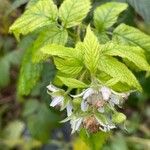
<svg viewBox="0 0 150 150">
<path fill-rule="evenodd" d="M 73 58 L 64 60 L 62 58 L 56 57 L 54 59 L 54 62 L 55 62 L 56 68 L 65 74 L 78 75 L 83 68 L 80 62 Z"/>
</svg>

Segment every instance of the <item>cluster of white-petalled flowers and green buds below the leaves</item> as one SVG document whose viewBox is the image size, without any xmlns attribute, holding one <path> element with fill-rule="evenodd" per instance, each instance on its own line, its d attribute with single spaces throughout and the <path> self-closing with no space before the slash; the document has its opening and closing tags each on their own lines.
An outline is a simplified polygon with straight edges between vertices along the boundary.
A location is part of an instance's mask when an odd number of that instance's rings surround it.
<svg viewBox="0 0 150 150">
<path fill-rule="evenodd" d="M 67 95 L 52 84 L 47 88 L 52 96 L 50 106 L 66 108 L 68 117 L 62 122 L 70 120 L 72 133 L 80 127 L 92 133 L 110 131 L 126 119 L 124 114 L 117 112 L 115 105 L 120 107 L 129 93 L 117 93 L 102 85 L 91 86 L 77 95 Z"/>
</svg>

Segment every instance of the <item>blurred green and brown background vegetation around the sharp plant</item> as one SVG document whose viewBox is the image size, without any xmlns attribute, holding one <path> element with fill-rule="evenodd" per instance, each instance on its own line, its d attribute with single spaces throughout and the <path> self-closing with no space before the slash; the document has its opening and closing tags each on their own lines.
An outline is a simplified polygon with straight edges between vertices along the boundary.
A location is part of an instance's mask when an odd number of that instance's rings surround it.
<svg viewBox="0 0 150 150">
<path fill-rule="evenodd" d="M 42 77 L 29 96 L 18 95 L 22 57 L 34 36 L 28 35 L 18 44 L 8 29 L 28 1 L 0 0 L 0 150 L 150 150 L 150 77 L 145 78 L 144 72 L 136 73 L 144 92 L 132 94 L 122 110 L 128 118 L 127 131 L 100 132 L 89 138 L 82 131 L 70 135 L 69 123 L 59 123 L 65 112 L 49 107 L 45 87 L 55 75 L 52 64 L 44 64 Z M 55 0 L 58 5 L 62 1 Z M 108 1 L 92 0 L 93 7 Z M 125 22 L 150 34 L 150 0 L 115 1 L 129 4 L 118 23 Z"/>
</svg>

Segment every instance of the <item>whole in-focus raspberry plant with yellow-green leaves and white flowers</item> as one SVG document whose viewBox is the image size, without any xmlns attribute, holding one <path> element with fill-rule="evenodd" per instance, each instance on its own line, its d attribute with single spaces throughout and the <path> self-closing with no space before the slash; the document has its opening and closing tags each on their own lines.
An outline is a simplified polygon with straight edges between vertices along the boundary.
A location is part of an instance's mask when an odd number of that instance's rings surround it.
<svg viewBox="0 0 150 150">
<path fill-rule="evenodd" d="M 117 23 L 127 8 L 109 2 L 91 11 L 90 0 L 64 0 L 59 7 L 53 0 L 30 0 L 10 27 L 18 41 L 21 35 L 35 35 L 24 54 L 19 94 L 30 94 L 49 61 L 57 69 L 47 86 L 50 106 L 67 110 L 62 122 L 70 121 L 72 133 L 82 127 L 95 133 L 121 126 L 126 116 L 117 108 L 131 92 L 142 92 L 132 71 L 150 71 L 150 37 Z"/>
</svg>

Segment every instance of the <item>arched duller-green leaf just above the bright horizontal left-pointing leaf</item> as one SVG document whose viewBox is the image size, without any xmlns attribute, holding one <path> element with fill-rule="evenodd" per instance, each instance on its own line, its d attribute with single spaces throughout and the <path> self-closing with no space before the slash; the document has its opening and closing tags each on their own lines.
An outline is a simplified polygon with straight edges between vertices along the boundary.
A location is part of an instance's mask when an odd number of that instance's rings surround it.
<svg viewBox="0 0 150 150">
<path fill-rule="evenodd" d="M 59 29 L 56 26 L 45 27 L 39 34 L 38 38 L 34 42 L 32 60 L 33 62 L 39 62 L 42 56 L 40 48 L 47 44 L 60 44 L 65 45 L 67 42 L 68 33 L 64 29 Z"/>
</svg>

